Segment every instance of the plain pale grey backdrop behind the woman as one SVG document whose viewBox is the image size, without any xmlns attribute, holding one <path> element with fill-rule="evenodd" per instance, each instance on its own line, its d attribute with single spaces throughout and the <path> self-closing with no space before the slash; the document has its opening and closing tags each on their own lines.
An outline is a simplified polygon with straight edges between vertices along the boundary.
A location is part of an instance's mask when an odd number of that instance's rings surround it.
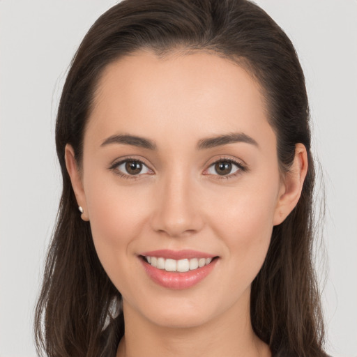
<svg viewBox="0 0 357 357">
<path fill-rule="evenodd" d="M 61 190 L 56 107 L 77 46 L 116 2 L 0 0 L 1 357 L 36 356 L 33 306 Z M 357 1 L 258 3 L 287 32 L 305 71 L 326 185 L 329 268 L 318 267 L 326 346 L 334 357 L 356 357 Z"/>
</svg>

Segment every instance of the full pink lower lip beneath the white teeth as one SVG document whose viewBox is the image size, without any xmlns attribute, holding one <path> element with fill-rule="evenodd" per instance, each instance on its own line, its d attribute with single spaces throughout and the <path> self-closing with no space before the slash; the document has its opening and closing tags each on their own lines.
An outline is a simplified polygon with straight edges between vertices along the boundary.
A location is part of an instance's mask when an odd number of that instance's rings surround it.
<svg viewBox="0 0 357 357">
<path fill-rule="evenodd" d="M 162 269 L 155 268 L 147 263 L 144 259 L 140 259 L 149 277 L 162 287 L 168 289 L 188 289 L 198 284 L 201 280 L 211 273 L 218 259 L 213 259 L 210 264 L 197 268 L 194 271 L 185 273 L 172 273 Z"/>
</svg>

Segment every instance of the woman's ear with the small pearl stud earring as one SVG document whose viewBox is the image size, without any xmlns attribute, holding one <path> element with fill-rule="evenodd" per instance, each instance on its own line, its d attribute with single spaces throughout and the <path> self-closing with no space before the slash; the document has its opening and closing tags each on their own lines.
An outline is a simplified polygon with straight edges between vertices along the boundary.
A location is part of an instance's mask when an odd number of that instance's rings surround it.
<svg viewBox="0 0 357 357">
<path fill-rule="evenodd" d="M 70 182 L 72 183 L 73 191 L 75 192 L 75 198 L 77 199 L 78 206 L 83 208 L 83 213 L 81 214 L 82 220 L 89 221 L 88 210 L 86 205 L 86 195 L 84 193 L 82 176 L 79 171 L 77 162 L 75 160 L 75 151 L 70 144 L 66 144 L 65 154 L 66 168 L 70 176 Z"/>
</svg>

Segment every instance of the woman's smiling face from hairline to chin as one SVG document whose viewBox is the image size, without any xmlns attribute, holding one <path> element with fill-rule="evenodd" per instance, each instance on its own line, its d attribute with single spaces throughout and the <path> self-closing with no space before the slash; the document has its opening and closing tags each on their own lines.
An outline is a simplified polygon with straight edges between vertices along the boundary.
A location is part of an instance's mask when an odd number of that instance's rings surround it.
<svg viewBox="0 0 357 357">
<path fill-rule="evenodd" d="M 74 186 L 124 312 L 179 327 L 247 314 L 283 219 L 258 84 L 213 54 L 137 52 L 107 66 L 94 104 Z"/>
</svg>

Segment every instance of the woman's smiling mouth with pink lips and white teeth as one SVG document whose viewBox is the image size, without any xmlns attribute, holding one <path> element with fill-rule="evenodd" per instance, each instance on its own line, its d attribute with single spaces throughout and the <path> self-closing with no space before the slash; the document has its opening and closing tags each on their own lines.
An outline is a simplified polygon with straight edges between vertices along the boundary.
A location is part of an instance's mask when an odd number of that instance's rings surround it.
<svg viewBox="0 0 357 357">
<path fill-rule="evenodd" d="M 192 250 L 157 250 L 139 258 L 149 278 L 168 289 L 193 287 L 213 271 L 219 260 L 218 256 Z"/>
</svg>

